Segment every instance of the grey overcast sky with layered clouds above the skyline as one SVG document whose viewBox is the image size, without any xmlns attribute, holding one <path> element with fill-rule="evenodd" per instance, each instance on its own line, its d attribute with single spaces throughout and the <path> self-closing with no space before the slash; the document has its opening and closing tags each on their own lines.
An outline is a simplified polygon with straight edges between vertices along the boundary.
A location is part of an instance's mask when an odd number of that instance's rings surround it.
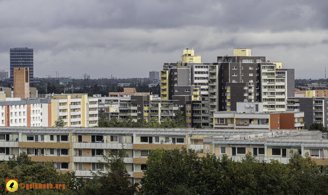
<svg viewBox="0 0 328 195">
<path fill-rule="evenodd" d="M 186 48 L 210 63 L 241 47 L 295 78 L 324 78 L 327 10 L 326 0 L 0 0 L 0 68 L 10 48 L 28 47 L 35 77 L 148 77 Z"/>
</svg>

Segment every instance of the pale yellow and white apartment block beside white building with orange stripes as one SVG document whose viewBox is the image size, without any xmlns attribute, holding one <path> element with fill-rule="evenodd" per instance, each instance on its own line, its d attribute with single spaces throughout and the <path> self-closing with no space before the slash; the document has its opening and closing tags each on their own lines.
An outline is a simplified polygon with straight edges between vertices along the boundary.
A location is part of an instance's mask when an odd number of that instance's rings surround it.
<svg viewBox="0 0 328 195">
<path fill-rule="evenodd" d="M 51 126 L 61 118 L 64 127 L 93 127 L 98 123 L 98 98 L 88 94 L 51 96 Z"/>
</svg>

